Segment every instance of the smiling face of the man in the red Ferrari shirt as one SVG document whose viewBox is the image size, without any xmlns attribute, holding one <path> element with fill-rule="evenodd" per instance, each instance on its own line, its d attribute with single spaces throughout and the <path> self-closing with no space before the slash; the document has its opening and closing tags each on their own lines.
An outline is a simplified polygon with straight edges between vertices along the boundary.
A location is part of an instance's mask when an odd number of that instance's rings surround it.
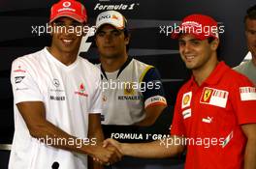
<svg viewBox="0 0 256 169">
<path fill-rule="evenodd" d="M 217 41 L 217 40 L 214 40 Z M 191 34 L 183 34 L 178 39 L 181 59 L 189 70 L 200 70 L 208 64 L 210 57 L 217 48 L 217 44 L 201 41 Z"/>
</svg>

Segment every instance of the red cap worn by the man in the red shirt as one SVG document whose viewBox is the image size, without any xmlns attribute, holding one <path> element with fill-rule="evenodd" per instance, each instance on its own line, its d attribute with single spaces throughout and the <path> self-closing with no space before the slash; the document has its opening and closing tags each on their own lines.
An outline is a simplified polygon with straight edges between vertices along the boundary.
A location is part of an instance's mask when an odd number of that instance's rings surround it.
<svg viewBox="0 0 256 169">
<path fill-rule="evenodd" d="M 186 16 L 174 30 L 171 35 L 173 39 L 179 38 L 180 34 L 192 34 L 199 40 L 205 40 L 209 37 L 219 38 L 218 23 L 212 17 L 204 14 L 190 14 Z"/>
</svg>

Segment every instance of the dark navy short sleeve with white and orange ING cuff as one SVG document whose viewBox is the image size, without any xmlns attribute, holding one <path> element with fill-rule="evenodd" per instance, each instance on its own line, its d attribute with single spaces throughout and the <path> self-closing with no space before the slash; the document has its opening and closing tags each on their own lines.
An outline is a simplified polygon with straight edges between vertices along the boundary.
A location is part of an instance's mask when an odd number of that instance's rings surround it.
<svg viewBox="0 0 256 169">
<path fill-rule="evenodd" d="M 142 80 L 142 93 L 144 96 L 144 108 L 155 105 L 167 105 L 160 74 L 155 68 L 150 68 L 144 74 Z"/>
</svg>

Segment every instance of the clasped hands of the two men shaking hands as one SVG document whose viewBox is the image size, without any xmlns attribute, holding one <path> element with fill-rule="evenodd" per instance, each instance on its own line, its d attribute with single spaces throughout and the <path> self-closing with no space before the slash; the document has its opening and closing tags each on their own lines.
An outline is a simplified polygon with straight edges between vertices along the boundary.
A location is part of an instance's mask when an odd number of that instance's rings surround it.
<svg viewBox="0 0 256 169">
<path fill-rule="evenodd" d="M 90 156 L 94 161 L 108 166 L 121 160 L 123 155 L 121 143 L 109 138 L 102 145 L 94 147 L 93 154 Z"/>
</svg>

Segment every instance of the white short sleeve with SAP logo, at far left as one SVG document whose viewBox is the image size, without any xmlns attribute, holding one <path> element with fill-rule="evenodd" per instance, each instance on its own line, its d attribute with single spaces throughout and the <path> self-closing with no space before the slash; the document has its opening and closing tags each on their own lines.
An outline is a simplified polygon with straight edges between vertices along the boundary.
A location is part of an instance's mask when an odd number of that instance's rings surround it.
<svg viewBox="0 0 256 169">
<path fill-rule="evenodd" d="M 11 83 L 15 103 L 22 101 L 43 101 L 33 70 L 21 59 L 16 59 L 12 65 Z"/>
</svg>

